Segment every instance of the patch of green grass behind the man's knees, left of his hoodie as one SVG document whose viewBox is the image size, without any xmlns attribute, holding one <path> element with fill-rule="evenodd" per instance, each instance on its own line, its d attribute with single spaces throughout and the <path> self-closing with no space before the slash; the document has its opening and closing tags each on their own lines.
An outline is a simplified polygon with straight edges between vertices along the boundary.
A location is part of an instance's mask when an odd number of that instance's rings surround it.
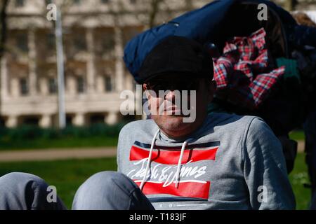
<svg viewBox="0 0 316 224">
<path fill-rule="evenodd" d="M 71 209 L 76 190 L 89 176 L 105 170 L 116 170 L 116 158 L 60 160 L 50 162 L 0 163 L 0 176 L 9 172 L 27 172 L 44 179 L 57 188 L 58 195 Z"/>
</svg>

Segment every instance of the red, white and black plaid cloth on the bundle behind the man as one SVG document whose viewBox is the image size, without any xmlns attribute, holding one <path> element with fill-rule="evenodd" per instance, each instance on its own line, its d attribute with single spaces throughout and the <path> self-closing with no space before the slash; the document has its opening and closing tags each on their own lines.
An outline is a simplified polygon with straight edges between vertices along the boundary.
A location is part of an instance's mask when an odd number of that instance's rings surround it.
<svg viewBox="0 0 316 224">
<path fill-rule="evenodd" d="M 284 66 L 269 67 L 263 28 L 226 42 L 223 55 L 213 62 L 216 97 L 248 109 L 258 108 L 285 71 Z"/>
</svg>

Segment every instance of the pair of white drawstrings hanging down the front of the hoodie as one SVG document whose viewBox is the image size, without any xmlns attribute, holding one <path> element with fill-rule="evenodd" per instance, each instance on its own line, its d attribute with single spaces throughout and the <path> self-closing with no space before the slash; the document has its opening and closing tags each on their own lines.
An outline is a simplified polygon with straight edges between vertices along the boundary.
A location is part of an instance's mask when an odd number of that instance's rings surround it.
<svg viewBox="0 0 316 224">
<path fill-rule="evenodd" d="M 152 138 L 152 144 L 150 146 L 150 153 L 148 155 L 148 158 L 147 158 L 147 165 L 146 165 L 146 169 L 145 169 L 145 175 L 143 177 L 143 180 L 142 182 L 140 183 L 140 190 L 143 190 L 143 187 L 144 187 L 144 184 L 145 184 L 145 180 L 147 178 L 147 174 L 149 172 L 149 169 L 150 169 L 150 162 L 152 160 L 152 150 L 154 148 L 154 142 L 156 141 L 156 138 L 157 138 L 157 135 L 159 134 L 160 132 L 160 129 L 157 130 L 157 132 L 154 134 L 154 137 Z M 180 171 L 181 171 L 181 162 L 182 162 L 182 159 L 183 159 L 183 154 L 184 154 L 184 151 L 185 151 L 185 146 L 187 146 L 187 143 L 189 141 L 191 141 L 192 139 L 187 139 L 183 142 L 182 144 L 182 147 L 181 147 L 181 152 L 180 152 L 180 157 L 179 157 L 179 160 L 178 160 L 178 167 L 177 167 L 177 172 L 176 172 L 176 188 L 178 188 L 179 186 L 179 179 L 180 179 Z"/>
</svg>

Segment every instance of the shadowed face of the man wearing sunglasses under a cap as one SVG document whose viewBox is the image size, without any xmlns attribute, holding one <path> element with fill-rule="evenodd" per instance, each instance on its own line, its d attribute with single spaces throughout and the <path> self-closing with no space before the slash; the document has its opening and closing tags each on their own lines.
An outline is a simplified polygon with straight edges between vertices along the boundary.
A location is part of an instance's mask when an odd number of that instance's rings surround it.
<svg viewBox="0 0 316 224">
<path fill-rule="evenodd" d="M 173 77 L 172 80 L 169 77 Z M 206 78 L 166 76 L 148 81 L 143 84 L 143 89 L 152 90 L 146 91 L 146 94 L 150 111 L 154 112 L 154 122 L 168 137 L 182 139 L 202 125 L 216 84 Z M 162 90 L 161 93 L 169 91 L 159 96 L 159 90 Z M 189 93 L 187 98 L 182 90 Z M 190 90 L 195 90 L 195 94 L 190 94 Z M 190 114 L 185 113 L 184 109 L 190 109 Z"/>
</svg>

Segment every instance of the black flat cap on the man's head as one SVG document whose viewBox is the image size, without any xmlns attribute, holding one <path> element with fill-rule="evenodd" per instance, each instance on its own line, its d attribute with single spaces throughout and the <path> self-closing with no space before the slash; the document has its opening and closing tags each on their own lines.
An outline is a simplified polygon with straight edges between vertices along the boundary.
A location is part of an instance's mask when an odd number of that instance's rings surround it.
<svg viewBox="0 0 316 224">
<path fill-rule="evenodd" d="M 154 46 L 138 72 L 140 83 L 161 75 L 172 78 L 175 73 L 212 79 L 213 61 L 209 52 L 190 38 L 169 36 Z"/>
</svg>

